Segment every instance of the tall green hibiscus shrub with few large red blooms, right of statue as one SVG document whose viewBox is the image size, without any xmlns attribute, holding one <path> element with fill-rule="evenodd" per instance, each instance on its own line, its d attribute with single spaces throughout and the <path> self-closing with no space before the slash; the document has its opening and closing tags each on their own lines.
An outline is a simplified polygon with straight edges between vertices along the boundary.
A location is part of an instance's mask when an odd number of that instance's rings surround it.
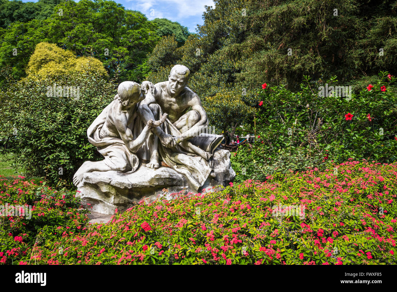
<svg viewBox="0 0 397 292">
<path fill-rule="evenodd" d="M 231 159 L 236 182 L 263 181 L 308 166 L 324 169 L 329 161 L 348 158 L 395 161 L 396 80 L 381 72 L 378 80 L 352 89 L 350 96 L 348 87 L 335 89 L 340 85 L 335 77 L 324 82 L 324 91 L 323 82 L 310 78 L 297 92 L 264 83 L 252 101 L 259 108 L 253 148 L 241 145 Z"/>
</svg>

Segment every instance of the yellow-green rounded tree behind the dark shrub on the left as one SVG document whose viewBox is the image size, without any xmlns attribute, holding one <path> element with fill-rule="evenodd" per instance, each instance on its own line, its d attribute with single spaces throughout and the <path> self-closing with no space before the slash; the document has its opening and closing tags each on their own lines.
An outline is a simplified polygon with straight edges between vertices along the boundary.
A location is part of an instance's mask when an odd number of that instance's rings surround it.
<svg viewBox="0 0 397 292">
<path fill-rule="evenodd" d="M 43 80 L 58 79 L 75 74 L 88 74 L 107 77 L 102 62 L 91 56 L 76 57 L 70 50 L 64 50 L 56 44 L 41 42 L 29 59 L 26 68 L 28 78 Z"/>
</svg>

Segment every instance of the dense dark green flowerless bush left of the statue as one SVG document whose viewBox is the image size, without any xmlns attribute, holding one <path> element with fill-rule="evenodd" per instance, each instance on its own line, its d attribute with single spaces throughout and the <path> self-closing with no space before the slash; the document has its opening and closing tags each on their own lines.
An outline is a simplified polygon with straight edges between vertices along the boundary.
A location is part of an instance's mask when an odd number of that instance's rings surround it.
<svg viewBox="0 0 397 292">
<path fill-rule="evenodd" d="M 78 86 L 79 94 L 64 95 L 62 90 L 58 95 L 54 86 Z M 87 128 L 114 99 L 115 86 L 89 72 L 56 81 L 10 80 L 7 90 L 0 92 L 0 152 L 12 153 L 17 168 L 29 176 L 71 182 L 84 161 L 101 157 L 87 139 Z"/>
</svg>

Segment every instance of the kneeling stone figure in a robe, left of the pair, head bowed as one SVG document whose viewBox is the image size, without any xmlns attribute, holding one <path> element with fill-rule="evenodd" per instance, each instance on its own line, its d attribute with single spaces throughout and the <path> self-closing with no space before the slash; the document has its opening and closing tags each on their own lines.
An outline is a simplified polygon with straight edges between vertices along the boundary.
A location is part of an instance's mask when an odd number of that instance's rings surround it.
<svg viewBox="0 0 397 292">
<path fill-rule="evenodd" d="M 141 86 L 132 81 L 120 83 L 117 92 L 114 100 L 104 108 L 87 130 L 89 142 L 97 147 L 104 160 L 84 162 L 73 176 L 76 186 L 83 180 L 85 172 L 137 170 L 139 159 L 135 153 L 148 138 L 150 130 L 167 118 L 167 114 L 164 114 L 160 121 L 148 119 L 143 131 L 134 140 L 132 123 L 138 116 L 137 108 L 139 102 L 145 99 L 145 94 Z"/>
</svg>

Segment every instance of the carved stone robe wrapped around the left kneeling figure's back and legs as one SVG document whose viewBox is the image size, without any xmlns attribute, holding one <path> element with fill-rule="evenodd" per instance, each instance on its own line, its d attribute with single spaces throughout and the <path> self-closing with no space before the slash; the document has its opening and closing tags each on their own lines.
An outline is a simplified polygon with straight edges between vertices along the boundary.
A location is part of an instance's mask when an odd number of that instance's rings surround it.
<svg viewBox="0 0 397 292">
<path fill-rule="evenodd" d="M 113 102 L 118 102 L 118 100 L 115 99 Z M 127 173 L 131 173 L 138 169 L 139 159 L 137 155 L 131 153 L 127 146 L 125 146 L 124 141 L 119 138 L 100 137 L 100 131 L 106 122 L 106 117 L 108 116 L 108 111 L 110 110 L 112 103 L 102 110 L 100 115 L 88 128 L 88 140 L 92 145 L 96 146 L 98 152 L 105 158 L 104 162 L 112 170 L 121 170 L 120 165 L 126 164 L 126 169 L 122 169 L 121 171 L 127 171 Z M 135 110 L 134 117 L 136 116 L 137 112 Z M 134 117 L 132 118 L 133 121 L 135 120 Z"/>
</svg>

